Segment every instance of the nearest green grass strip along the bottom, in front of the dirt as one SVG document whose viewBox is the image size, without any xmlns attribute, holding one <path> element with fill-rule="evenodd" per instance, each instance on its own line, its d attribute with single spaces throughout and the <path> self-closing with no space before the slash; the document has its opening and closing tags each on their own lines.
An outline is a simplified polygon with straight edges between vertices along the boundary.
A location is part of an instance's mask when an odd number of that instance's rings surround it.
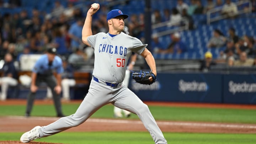
<svg viewBox="0 0 256 144">
<path fill-rule="evenodd" d="M 19 140 L 22 133 L 0 133 L 0 140 Z M 255 134 L 164 133 L 169 144 L 255 144 Z M 148 132 L 62 132 L 37 142 L 64 144 L 153 144 Z"/>
</svg>

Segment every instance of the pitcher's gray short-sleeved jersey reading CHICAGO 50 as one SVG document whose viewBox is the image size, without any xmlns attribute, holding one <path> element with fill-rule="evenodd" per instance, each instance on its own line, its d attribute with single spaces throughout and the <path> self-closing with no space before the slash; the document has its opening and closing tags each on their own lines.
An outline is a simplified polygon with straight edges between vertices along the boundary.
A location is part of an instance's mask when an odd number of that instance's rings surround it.
<svg viewBox="0 0 256 144">
<path fill-rule="evenodd" d="M 147 44 L 125 33 L 111 37 L 108 33 L 98 33 L 87 38 L 94 48 L 95 62 L 92 75 L 107 82 L 124 80 L 127 61 L 132 52 L 141 54 Z"/>
</svg>

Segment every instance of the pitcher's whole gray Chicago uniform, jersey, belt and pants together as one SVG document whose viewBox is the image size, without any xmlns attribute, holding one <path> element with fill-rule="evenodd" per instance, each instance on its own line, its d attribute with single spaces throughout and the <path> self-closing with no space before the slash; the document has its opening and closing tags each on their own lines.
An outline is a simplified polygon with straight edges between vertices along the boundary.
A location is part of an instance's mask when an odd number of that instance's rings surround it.
<svg viewBox="0 0 256 144">
<path fill-rule="evenodd" d="M 74 114 L 41 127 L 39 137 L 47 137 L 78 126 L 99 108 L 112 103 L 118 108 L 137 114 L 155 144 L 167 144 L 148 106 L 122 84 L 131 53 L 141 54 L 147 44 L 142 44 L 139 39 L 124 33 L 114 37 L 108 33 L 98 33 L 88 37 L 87 41 L 95 53 L 93 79 L 88 93 Z"/>
</svg>

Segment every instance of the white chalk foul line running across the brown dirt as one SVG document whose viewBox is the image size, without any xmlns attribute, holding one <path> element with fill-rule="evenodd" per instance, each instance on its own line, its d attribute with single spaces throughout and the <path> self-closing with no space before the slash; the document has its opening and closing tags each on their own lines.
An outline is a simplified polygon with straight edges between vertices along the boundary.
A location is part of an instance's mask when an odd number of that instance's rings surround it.
<svg viewBox="0 0 256 144">
<path fill-rule="evenodd" d="M 12 119 L 31 119 L 41 121 L 57 121 L 57 117 L 23 117 L 23 116 L 8 116 L 7 118 Z M 96 119 L 89 118 L 87 122 L 98 122 L 98 123 L 127 123 L 127 124 L 142 124 L 141 121 L 137 120 L 121 120 L 121 119 Z M 242 125 L 242 124 L 217 124 L 217 123 L 194 123 L 194 122 L 157 122 L 158 125 L 169 125 L 169 126 L 196 126 L 196 127 L 221 127 L 221 128 L 245 128 L 245 129 L 256 129 L 256 126 Z"/>
</svg>

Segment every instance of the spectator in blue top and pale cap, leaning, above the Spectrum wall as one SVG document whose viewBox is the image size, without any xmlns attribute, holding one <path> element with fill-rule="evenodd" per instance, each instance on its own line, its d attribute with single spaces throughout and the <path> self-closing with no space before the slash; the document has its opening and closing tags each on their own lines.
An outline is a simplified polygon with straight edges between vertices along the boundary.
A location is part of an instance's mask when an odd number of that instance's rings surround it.
<svg viewBox="0 0 256 144">
<path fill-rule="evenodd" d="M 180 54 L 187 51 L 187 47 L 185 43 L 183 43 L 180 39 L 180 33 L 175 32 L 171 34 L 172 42 L 169 44 L 167 49 L 159 49 L 156 53 L 173 53 Z"/>
</svg>

